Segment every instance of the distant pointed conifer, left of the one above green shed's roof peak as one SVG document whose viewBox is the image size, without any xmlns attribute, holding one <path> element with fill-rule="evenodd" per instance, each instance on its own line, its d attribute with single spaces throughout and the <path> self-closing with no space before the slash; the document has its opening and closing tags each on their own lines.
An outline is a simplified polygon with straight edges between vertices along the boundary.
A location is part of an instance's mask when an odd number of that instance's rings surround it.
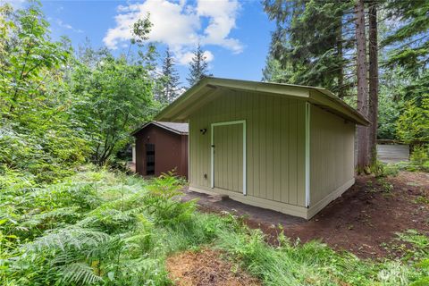
<svg viewBox="0 0 429 286">
<path fill-rule="evenodd" d="M 160 82 L 160 91 L 157 92 L 157 100 L 162 103 L 171 103 L 180 95 L 180 77 L 174 68 L 174 59 L 172 53 L 167 47 L 163 61 L 162 76 Z"/>
</svg>

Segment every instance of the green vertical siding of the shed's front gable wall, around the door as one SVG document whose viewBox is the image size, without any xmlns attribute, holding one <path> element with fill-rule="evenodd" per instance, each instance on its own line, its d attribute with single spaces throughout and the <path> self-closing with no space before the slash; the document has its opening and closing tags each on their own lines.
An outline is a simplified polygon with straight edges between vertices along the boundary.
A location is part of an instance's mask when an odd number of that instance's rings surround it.
<svg viewBox="0 0 429 286">
<path fill-rule="evenodd" d="M 245 120 L 247 124 L 248 196 L 305 206 L 305 102 L 287 97 L 223 91 L 196 114 L 191 114 L 190 185 L 210 188 L 210 124 L 238 120 Z M 204 128 L 207 132 L 202 135 L 199 130 Z M 222 172 L 220 175 L 230 183 L 228 189 L 234 191 L 243 188 L 239 180 L 242 166 L 233 163 L 240 161 L 237 156 L 240 137 L 229 136 L 229 131 L 237 130 L 222 131 L 228 148 L 237 148 L 237 152 L 217 159 L 225 165 L 222 169 L 215 165 L 214 172 Z"/>
</svg>

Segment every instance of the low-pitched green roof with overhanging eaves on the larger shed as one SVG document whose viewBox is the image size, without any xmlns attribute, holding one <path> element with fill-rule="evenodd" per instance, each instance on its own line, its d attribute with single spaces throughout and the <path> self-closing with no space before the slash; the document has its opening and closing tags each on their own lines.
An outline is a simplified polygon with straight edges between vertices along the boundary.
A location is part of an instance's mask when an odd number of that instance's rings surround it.
<svg viewBox="0 0 429 286">
<path fill-rule="evenodd" d="M 230 80 L 207 77 L 199 80 L 192 88 L 184 92 L 171 105 L 166 106 L 156 115 L 156 121 L 188 122 L 190 114 L 223 94 L 223 90 L 257 92 L 264 95 L 294 97 L 308 101 L 333 114 L 355 122 L 369 125 L 369 121 L 353 107 L 347 105 L 331 91 L 324 88 L 279 84 L 249 80 Z"/>
</svg>

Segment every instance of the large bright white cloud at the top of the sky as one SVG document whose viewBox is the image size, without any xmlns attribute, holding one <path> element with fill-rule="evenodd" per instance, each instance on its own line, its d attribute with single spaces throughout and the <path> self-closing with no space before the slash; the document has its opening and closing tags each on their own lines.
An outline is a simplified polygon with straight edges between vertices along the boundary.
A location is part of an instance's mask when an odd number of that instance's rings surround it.
<svg viewBox="0 0 429 286">
<path fill-rule="evenodd" d="M 118 48 L 131 38 L 132 24 L 150 13 L 153 27 L 149 40 L 169 46 L 178 63 L 189 63 L 191 51 L 198 42 L 202 46 L 223 46 L 240 53 L 240 41 L 229 38 L 239 9 L 238 0 L 198 0 L 192 4 L 185 0 L 147 0 L 142 4 L 119 5 L 114 17 L 116 26 L 107 30 L 103 41 L 109 48 Z M 207 51 L 206 57 L 211 61 L 214 55 Z"/>
</svg>

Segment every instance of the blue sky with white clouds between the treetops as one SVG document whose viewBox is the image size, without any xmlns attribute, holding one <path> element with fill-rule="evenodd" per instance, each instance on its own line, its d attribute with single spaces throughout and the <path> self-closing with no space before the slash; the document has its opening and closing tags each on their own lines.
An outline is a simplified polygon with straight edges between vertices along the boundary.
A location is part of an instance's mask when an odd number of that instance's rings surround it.
<svg viewBox="0 0 429 286">
<path fill-rule="evenodd" d="M 260 1 L 147 0 L 147 1 L 42 1 L 52 37 L 65 35 L 78 46 L 92 45 L 121 53 L 129 43 L 130 23 L 150 12 L 149 35 L 163 55 L 170 46 L 182 83 L 191 50 L 202 43 L 217 77 L 261 80 L 261 70 L 274 28 Z"/>
</svg>

